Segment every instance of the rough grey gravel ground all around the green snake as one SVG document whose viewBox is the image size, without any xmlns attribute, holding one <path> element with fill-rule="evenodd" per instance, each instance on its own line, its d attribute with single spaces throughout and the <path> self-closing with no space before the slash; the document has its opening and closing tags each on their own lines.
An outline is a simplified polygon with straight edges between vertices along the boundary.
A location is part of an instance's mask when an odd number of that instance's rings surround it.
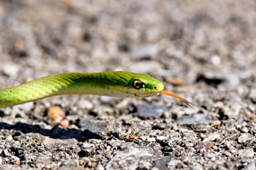
<svg viewBox="0 0 256 170">
<path fill-rule="evenodd" d="M 4 108 L 0 169 L 255 170 L 255 9 L 253 0 L 0 1 L 0 89 L 125 70 L 198 106 L 71 95 Z"/>
</svg>

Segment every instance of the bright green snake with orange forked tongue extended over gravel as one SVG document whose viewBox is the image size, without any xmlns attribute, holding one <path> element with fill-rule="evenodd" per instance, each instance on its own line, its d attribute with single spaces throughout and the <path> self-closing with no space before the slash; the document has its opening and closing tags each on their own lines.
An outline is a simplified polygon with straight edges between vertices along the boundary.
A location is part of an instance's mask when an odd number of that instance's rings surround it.
<svg viewBox="0 0 256 170">
<path fill-rule="evenodd" d="M 142 73 L 128 71 L 60 73 L 0 90 L 0 108 L 64 94 L 111 97 L 152 97 L 165 94 L 176 97 L 188 105 L 192 104 L 163 89 L 163 83 Z"/>
</svg>

